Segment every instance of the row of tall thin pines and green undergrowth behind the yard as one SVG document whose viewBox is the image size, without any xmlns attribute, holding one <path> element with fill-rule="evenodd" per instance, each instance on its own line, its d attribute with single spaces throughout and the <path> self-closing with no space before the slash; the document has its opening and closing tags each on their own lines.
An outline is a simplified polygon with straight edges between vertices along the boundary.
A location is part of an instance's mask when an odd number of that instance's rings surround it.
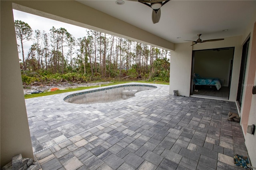
<svg viewBox="0 0 256 170">
<path fill-rule="evenodd" d="M 22 28 L 29 26 L 21 21 L 16 21 L 16 25 L 17 40 L 22 43 L 18 43 L 18 50 L 24 56 L 23 43 L 31 39 L 32 30 L 25 34 Z M 87 36 L 76 39 L 65 28 L 52 27 L 49 33 L 35 30 L 34 44 L 20 62 L 21 69 L 58 75 L 74 71 L 82 76 L 92 75 L 92 79 L 139 75 L 167 80 L 170 51 L 94 30 L 86 32 Z"/>
</svg>

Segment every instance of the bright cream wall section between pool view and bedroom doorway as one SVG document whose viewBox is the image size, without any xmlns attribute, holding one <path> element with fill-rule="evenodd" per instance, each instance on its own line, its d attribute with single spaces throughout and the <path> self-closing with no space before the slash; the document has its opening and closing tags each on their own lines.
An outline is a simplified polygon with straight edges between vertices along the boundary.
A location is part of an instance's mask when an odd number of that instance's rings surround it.
<svg viewBox="0 0 256 170">
<path fill-rule="evenodd" d="M 191 43 L 175 44 L 170 59 L 170 94 L 178 90 L 178 95 L 190 95 L 192 46 Z"/>
</svg>

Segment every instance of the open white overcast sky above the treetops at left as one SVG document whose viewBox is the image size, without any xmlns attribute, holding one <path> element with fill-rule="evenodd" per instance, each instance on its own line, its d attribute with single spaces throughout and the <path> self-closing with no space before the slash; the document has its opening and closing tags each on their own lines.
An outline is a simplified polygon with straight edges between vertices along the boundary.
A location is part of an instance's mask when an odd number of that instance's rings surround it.
<svg viewBox="0 0 256 170">
<path fill-rule="evenodd" d="M 28 14 L 26 12 L 21 12 L 18 10 L 13 10 L 13 16 L 14 20 L 21 20 L 23 22 L 26 22 L 33 30 L 33 35 L 34 37 L 34 31 L 35 30 L 40 30 L 41 32 L 45 31 L 46 33 L 50 33 L 50 29 L 52 26 L 54 26 L 56 29 L 58 28 L 65 28 L 70 34 L 72 34 L 76 39 L 77 38 L 82 38 L 86 36 L 86 28 L 82 28 L 79 26 L 74 26 L 71 24 L 67 24 L 64 22 L 59 22 L 56 20 L 51 20 L 48 18 L 44 18 L 41 16 L 33 15 L 33 14 Z M 24 43 L 24 55 L 26 57 L 28 50 L 30 46 L 32 45 L 32 41 L 28 41 Z M 18 42 L 18 44 L 20 44 Z M 19 53 L 19 58 L 22 59 L 22 54 Z"/>
</svg>

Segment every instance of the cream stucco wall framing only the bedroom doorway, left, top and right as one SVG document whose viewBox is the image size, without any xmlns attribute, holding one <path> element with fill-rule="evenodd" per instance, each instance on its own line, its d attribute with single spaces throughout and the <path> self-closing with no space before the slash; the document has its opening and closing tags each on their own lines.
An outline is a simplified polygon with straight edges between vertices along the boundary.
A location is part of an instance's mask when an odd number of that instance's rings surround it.
<svg viewBox="0 0 256 170">
<path fill-rule="evenodd" d="M 190 95 L 192 50 L 235 47 L 229 101 L 236 101 L 242 54 L 241 38 L 242 36 L 229 37 L 222 41 L 206 42 L 193 46 L 190 46 L 192 43 L 175 44 L 175 50 L 171 53 L 170 60 L 170 94 L 173 94 L 172 90 L 179 88 L 179 91 L 185 96 Z M 181 80 L 177 81 L 177 79 Z"/>
</svg>

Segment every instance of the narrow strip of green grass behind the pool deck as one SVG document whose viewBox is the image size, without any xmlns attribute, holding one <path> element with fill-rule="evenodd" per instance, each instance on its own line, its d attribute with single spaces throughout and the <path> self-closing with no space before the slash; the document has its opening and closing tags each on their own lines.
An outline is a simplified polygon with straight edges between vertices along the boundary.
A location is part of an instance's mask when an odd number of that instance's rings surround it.
<svg viewBox="0 0 256 170">
<path fill-rule="evenodd" d="M 122 84 L 122 83 L 130 83 L 130 82 L 154 83 L 154 82 L 149 82 L 149 81 L 117 81 L 117 82 L 112 82 L 112 83 L 108 83 L 108 84 L 103 84 L 103 85 L 101 85 L 101 87 L 109 86 L 109 85 L 118 85 L 118 84 Z M 155 82 L 155 83 L 156 83 L 156 84 L 165 84 L 165 85 L 169 85 L 169 83 L 166 83 L 166 82 Z M 66 93 L 66 92 L 71 92 L 71 91 L 92 89 L 92 88 L 96 88 L 96 87 L 100 87 L 100 85 L 86 86 L 86 87 L 77 87 L 77 88 L 68 88 L 68 89 L 65 89 L 65 90 L 46 91 L 46 92 L 44 92 L 44 93 L 36 93 L 36 94 L 24 95 L 24 98 L 25 98 L 25 99 L 29 99 L 29 98 L 33 98 L 33 97 L 41 97 L 41 96 L 48 96 L 48 95 L 56 95 L 56 94 L 59 94 L 59 93 Z"/>
</svg>

